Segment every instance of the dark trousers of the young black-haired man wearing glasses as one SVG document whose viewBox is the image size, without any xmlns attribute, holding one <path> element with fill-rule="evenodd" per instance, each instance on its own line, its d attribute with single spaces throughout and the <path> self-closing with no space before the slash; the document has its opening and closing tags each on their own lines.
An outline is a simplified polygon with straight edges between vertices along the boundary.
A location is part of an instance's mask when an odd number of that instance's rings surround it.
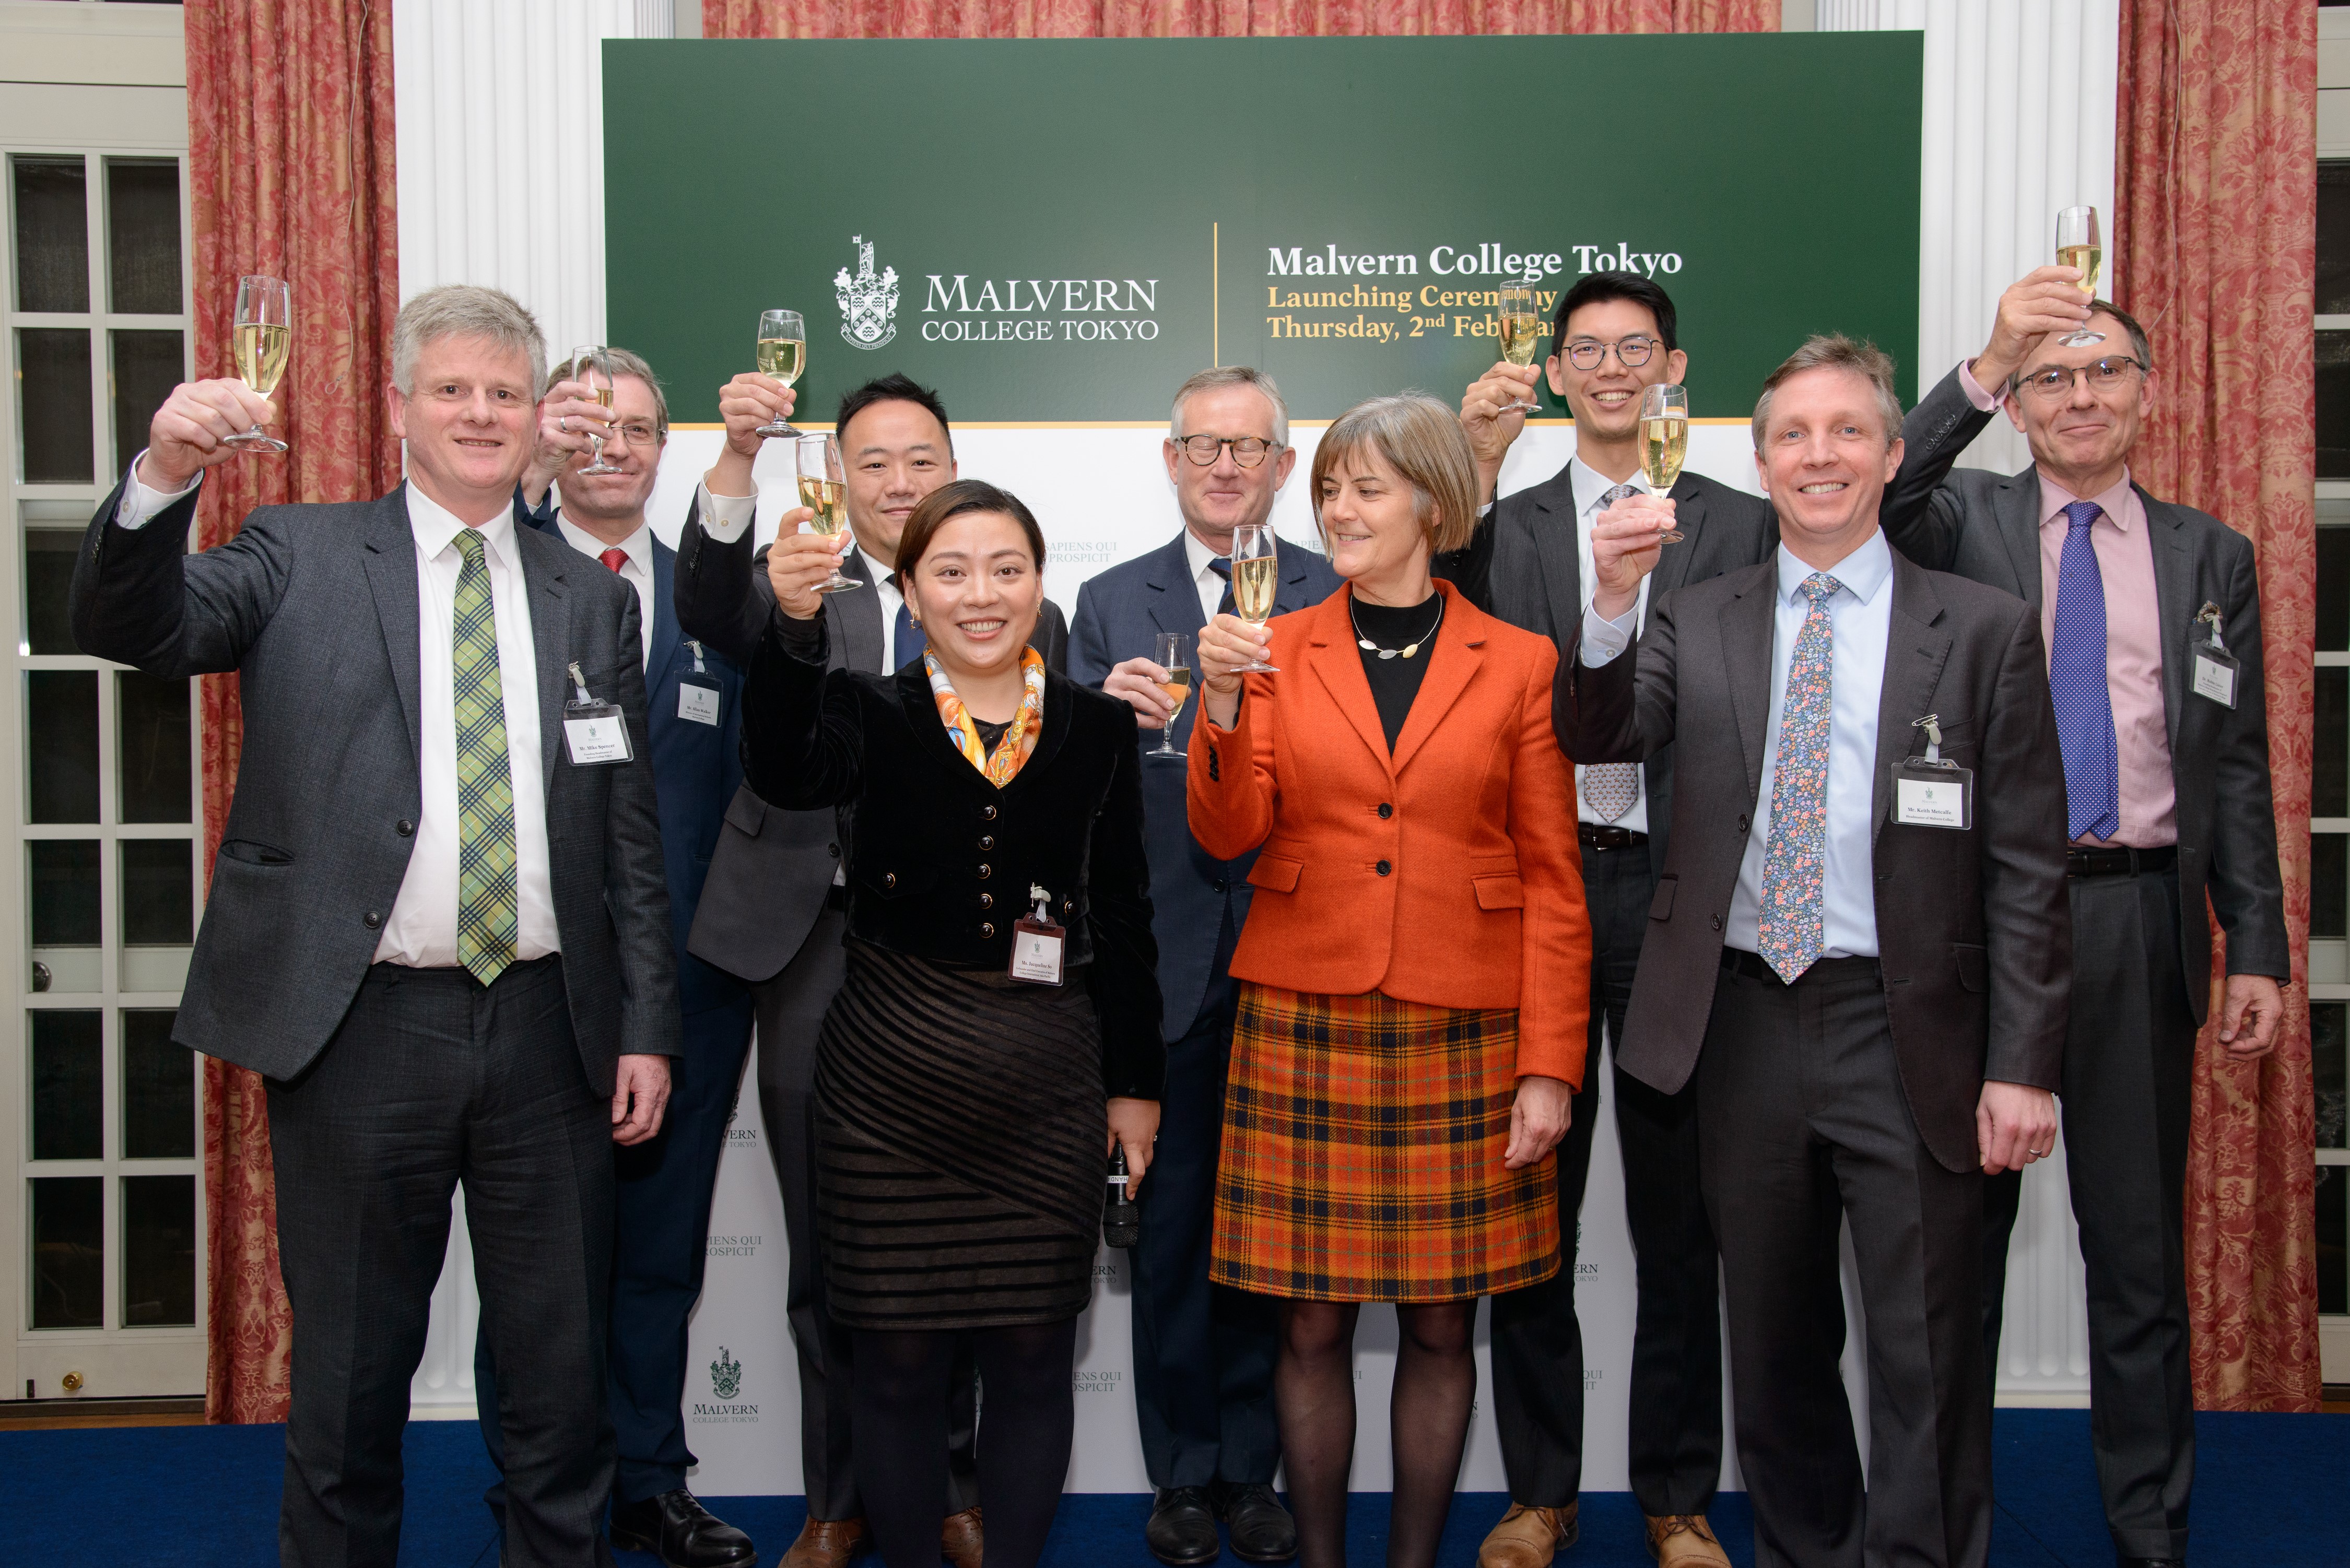
<svg viewBox="0 0 2350 1568">
<path fill-rule="evenodd" d="M 1598 1119 L 1600 1023 L 1624 1037 L 1624 1006 L 1654 896 L 1647 846 L 1586 849 L 1591 1046 L 1558 1145 L 1563 1267 L 1492 1298 L 1492 1413 L 1509 1495 L 1565 1507 L 1584 1479 L 1584 1331 L 1574 1319 L 1574 1229 Z M 1697 1091 L 1657 1093 L 1614 1070 L 1624 1218 L 1640 1291 L 1631 1342 L 1631 1490 L 1645 1514 L 1704 1514 L 1723 1474 L 1723 1321 L 1713 1227 L 1697 1182 Z"/>
</svg>

